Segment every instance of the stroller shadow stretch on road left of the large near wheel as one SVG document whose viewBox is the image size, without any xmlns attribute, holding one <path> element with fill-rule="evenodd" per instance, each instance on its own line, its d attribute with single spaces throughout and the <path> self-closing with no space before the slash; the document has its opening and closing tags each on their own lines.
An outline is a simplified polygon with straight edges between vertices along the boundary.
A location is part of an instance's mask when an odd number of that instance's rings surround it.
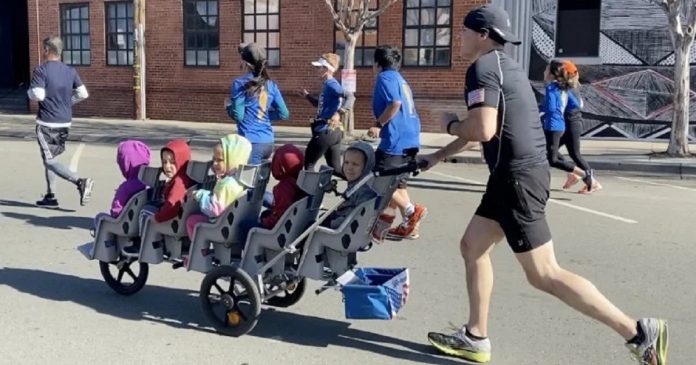
<svg viewBox="0 0 696 365">
<path fill-rule="evenodd" d="M 97 265 L 95 270 L 98 270 Z M 101 280 L 10 267 L 0 269 L 0 285 L 51 301 L 72 302 L 130 321 L 152 321 L 179 329 L 215 332 L 211 327 L 199 325 L 203 315 L 198 292 L 193 290 L 147 285 L 135 295 L 122 296 Z"/>
</svg>

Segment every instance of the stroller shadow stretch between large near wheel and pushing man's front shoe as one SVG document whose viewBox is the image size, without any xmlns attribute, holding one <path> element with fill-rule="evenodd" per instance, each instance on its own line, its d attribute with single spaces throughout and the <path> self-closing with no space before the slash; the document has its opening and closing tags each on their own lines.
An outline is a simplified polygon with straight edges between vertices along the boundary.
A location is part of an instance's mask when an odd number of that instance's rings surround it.
<svg viewBox="0 0 696 365">
<path fill-rule="evenodd" d="M 262 312 L 261 320 L 250 335 L 303 346 L 354 348 L 421 364 L 467 364 L 438 356 L 432 346 L 424 343 L 350 328 L 350 325 L 349 322 L 270 308 Z"/>
</svg>

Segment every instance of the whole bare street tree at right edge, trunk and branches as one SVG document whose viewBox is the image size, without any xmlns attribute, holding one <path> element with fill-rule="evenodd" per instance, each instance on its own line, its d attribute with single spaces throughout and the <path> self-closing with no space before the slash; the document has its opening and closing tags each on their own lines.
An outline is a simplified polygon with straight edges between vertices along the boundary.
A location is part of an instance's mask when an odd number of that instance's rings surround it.
<svg viewBox="0 0 696 365">
<path fill-rule="evenodd" d="M 689 56 L 696 33 L 696 0 L 649 0 L 664 10 L 674 47 L 674 114 L 667 154 L 689 155 Z"/>
</svg>

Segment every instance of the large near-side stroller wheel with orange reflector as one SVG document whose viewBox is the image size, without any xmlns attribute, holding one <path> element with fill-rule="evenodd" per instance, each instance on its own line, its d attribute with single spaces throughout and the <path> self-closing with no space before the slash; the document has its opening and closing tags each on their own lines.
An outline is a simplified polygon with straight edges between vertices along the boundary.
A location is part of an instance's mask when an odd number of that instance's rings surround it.
<svg viewBox="0 0 696 365">
<path fill-rule="evenodd" d="M 206 319 L 223 335 L 245 335 L 259 321 L 259 289 L 238 267 L 220 266 L 208 272 L 201 283 L 200 298 Z"/>
</svg>

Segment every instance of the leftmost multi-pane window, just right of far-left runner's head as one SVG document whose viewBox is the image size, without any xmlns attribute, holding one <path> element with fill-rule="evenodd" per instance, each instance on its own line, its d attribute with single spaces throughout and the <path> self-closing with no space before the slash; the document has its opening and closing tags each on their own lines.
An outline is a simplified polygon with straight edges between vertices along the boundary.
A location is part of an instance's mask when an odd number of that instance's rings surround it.
<svg viewBox="0 0 696 365">
<path fill-rule="evenodd" d="M 89 38 L 89 5 L 63 4 L 60 6 L 63 62 L 74 66 L 92 63 Z"/>
</svg>

